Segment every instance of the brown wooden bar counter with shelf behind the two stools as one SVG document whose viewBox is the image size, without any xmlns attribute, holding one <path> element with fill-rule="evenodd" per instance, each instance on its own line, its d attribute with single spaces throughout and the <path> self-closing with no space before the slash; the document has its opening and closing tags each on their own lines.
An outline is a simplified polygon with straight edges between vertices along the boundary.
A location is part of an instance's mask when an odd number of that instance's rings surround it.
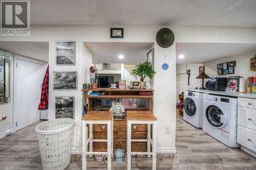
<svg viewBox="0 0 256 170">
<path fill-rule="evenodd" d="M 90 95 L 89 91 L 99 91 L 107 92 L 109 94 L 103 95 Z M 147 92 L 150 95 L 140 95 L 140 92 Z M 94 106 L 93 100 L 95 99 L 128 99 L 128 98 L 141 98 L 147 99 L 147 106 L 138 106 L 137 108 L 125 108 L 125 111 L 141 111 L 140 114 L 146 113 L 145 111 L 152 111 L 152 98 L 154 90 L 152 89 L 110 89 L 110 88 L 98 88 L 95 90 L 82 90 L 82 93 L 85 94 L 84 97 L 88 101 L 88 111 L 93 111 L 95 109 L 100 109 L 108 111 L 110 107 L 101 107 Z M 145 94 L 145 93 L 144 93 Z M 119 149 L 124 149 L 126 152 L 126 126 L 127 121 L 126 117 L 124 119 L 114 119 L 114 151 Z M 106 125 L 93 125 L 93 138 L 94 139 L 106 139 L 107 129 Z M 132 139 L 146 139 L 147 138 L 147 125 L 132 125 Z M 94 152 L 105 152 L 106 151 L 106 142 L 94 142 L 93 144 Z M 147 142 L 132 142 L 132 151 L 133 152 L 146 152 L 147 151 Z"/>
</svg>

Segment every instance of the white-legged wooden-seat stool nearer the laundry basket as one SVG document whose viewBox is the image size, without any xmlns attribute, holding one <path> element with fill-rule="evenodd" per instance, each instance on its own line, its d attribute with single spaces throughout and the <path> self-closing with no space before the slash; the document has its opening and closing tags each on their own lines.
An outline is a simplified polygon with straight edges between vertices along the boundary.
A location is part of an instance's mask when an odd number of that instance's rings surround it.
<svg viewBox="0 0 256 170">
<path fill-rule="evenodd" d="M 93 124 L 107 124 L 107 139 L 93 139 Z M 87 137 L 87 125 L 89 125 L 89 138 Z M 107 152 L 93 152 L 93 142 L 107 142 Z M 87 152 L 90 143 L 90 152 Z M 111 170 L 111 157 L 113 154 L 113 113 L 109 111 L 90 111 L 82 117 L 82 170 L 87 169 L 87 154 L 108 155 L 108 170 Z"/>
</svg>

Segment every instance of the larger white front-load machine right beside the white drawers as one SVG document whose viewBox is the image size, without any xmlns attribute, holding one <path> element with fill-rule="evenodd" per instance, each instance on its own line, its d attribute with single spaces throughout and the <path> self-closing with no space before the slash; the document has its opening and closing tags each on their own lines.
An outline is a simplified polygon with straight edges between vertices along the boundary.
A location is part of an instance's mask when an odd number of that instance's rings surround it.
<svg viewBox="0 0 256 170">
<path fill-rule="evenodd" d="M 238 99 L 229 96 L 204 94 L 203 131 L 230 148 L 237 143 Z"/>
</svg>

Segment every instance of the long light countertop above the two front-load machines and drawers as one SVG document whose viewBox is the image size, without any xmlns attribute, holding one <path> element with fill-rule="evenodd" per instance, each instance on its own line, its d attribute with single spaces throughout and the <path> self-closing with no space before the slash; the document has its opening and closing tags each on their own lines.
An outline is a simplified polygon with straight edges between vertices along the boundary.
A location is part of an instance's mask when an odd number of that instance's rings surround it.
<svg viewBox="0 0 256 170">
<path fill-rule="evenodd" d="M 238 98 L 249 98 L 249 99 L 256 99 L 256 94 L 251 93 L 240 93 L 240 92 L 233 92 L 233 91 L 211 91 L 211 90 L 200 90 L 200 89 L 187 89 L 187 91 L 195 91 L 207 94 L 218 94 L 218 95 L 226 95 L 226 96 L 233 96 Z"/>
</svg>

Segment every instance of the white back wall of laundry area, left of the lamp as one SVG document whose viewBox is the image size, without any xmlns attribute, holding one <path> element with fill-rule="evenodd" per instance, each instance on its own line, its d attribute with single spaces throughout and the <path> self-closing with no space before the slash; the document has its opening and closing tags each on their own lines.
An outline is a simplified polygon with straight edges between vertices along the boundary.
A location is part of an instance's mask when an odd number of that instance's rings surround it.
<svg viewBox="0 0 256 170">
<path fill-rule="evenodd" d="M 178 65 L 178 64 L 177 64 Z M 190 84 L 188 85 L 188 75 L 185 74 L 180 74 L 176 76 L 176 86 L 177 86 L 177 98 L 176 102 L 179 102 L 179 94 L 182 91 L 185 91 L 188 88 L 196 88 L 196 87 L 201 87 L 202 86 L 202 79 L 196 79 L 199 75 L 199 66 L 202 66 L 203 64 L 187 64 L 187 70 L 190 69 L 190 78 L 189 82 Z"/>
</svg>

